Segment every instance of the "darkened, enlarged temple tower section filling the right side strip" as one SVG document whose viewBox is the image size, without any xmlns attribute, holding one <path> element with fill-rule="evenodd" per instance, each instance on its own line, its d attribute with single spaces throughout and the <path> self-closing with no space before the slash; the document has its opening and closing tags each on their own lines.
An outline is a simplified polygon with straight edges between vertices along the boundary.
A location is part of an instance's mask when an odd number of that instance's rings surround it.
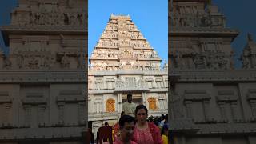
<svg viewBox="0 0 256 144">
<path fill-rule="evenodd" d="M 207 0 L 173 0 L 169 12 L 173 143 L 255 143 L 255 43 L 234 69 L 238 30 Z"/>
</svg>

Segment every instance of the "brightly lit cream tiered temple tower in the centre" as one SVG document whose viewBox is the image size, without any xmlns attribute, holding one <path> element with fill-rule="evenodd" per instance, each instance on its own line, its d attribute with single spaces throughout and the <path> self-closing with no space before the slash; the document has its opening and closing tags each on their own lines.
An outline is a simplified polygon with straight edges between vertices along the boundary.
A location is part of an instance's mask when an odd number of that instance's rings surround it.
<svg viewBox="0 0 256 144">
<path fill-rule="evenodd" d="M 149 116 L 167 114 L 167 64 L 142 36 L 129 15 L 111 15 L 90 57 L 89 121 L 96 134 L 104 122 L 117 122 L 126 95 L 149 108 Z"/>
</svg>

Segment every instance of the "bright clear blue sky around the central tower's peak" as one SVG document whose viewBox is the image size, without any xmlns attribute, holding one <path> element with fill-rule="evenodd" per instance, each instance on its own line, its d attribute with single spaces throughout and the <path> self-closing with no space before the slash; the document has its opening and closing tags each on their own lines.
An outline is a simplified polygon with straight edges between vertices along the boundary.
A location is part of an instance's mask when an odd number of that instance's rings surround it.
<svg viewBox="0 0 256 144">
<path fill-rule="evenodd" d="M 89 56 L 110 14 L 129 14 L 162 60 L 168 58 L 168 0 L 89 0 L 88 12 Z"/>
</svg>

